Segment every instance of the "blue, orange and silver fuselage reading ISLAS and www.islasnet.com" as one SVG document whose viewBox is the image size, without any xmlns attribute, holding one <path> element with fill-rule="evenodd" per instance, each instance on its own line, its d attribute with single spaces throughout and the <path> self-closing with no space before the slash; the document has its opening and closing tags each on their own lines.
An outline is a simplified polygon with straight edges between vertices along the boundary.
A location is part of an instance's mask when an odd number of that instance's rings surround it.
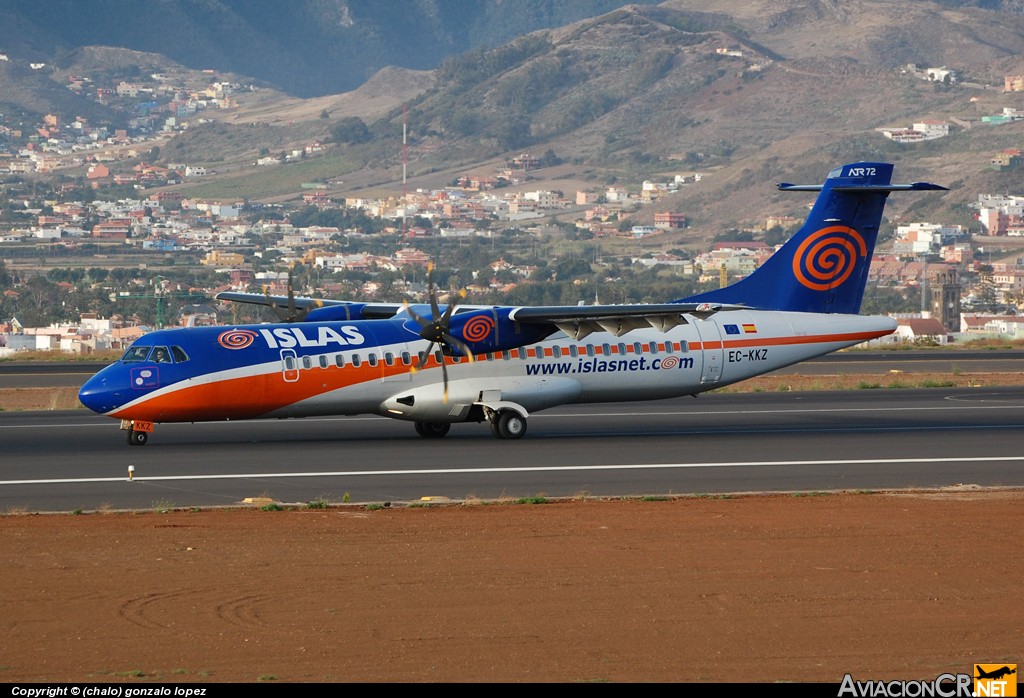
<svg viewBox="0 0 1024 698">
<path fill-rule="evenodd" d="M 695 394 L 896 326 L 888 317 L 757 310 L 686 319 L 622 337 L 557 333 L 472 361 L 437 350 L 418 370 L 428 343 L 408 317 L 164 330 L 91 378 L 80 399 L 101 415 L 155 423 L 357 413 L 458 422 L 484 396 L 536 411 Z"/>
</svg>

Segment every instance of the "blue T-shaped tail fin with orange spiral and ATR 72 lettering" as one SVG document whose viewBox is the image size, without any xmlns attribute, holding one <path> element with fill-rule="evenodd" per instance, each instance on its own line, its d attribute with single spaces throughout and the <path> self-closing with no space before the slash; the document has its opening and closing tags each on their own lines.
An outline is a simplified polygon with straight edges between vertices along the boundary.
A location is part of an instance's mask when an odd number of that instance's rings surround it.
<svg viewBox="0 0 1024 698">
<path fill-rule="evenodd" d="M 682 300 L 763 310 L 860 312 L 889 192 L 946 188 L 928 182 L 891 184 L 892 174 L 888 163 L 853 163 L 829 172 L 824 184 L 779 184 L 782 191 L 820 191 L 803 227 L 746 278 Z"/>
</svg>

